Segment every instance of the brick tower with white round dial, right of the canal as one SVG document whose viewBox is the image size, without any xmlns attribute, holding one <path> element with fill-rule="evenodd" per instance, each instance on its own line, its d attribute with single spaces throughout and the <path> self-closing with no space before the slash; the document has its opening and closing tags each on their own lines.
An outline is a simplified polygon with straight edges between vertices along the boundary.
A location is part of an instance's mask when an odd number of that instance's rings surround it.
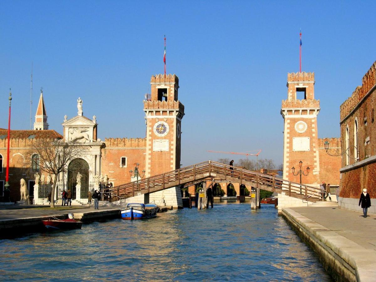
<svg viewBox="0 0 376 282">
<path fill-rule="evenodd" d="M 314 96 L 314 73 L 289 73 L 287 75 L 287 100 L 282 100 L 281 115 L 284 118 L 284 179 L 300 182 L 299 161 L 303 162 L 302 183 L 317 185 L 319 183 L 320 162 L 317 138 L 317 115 L 320 100 Z"/>
</svg>

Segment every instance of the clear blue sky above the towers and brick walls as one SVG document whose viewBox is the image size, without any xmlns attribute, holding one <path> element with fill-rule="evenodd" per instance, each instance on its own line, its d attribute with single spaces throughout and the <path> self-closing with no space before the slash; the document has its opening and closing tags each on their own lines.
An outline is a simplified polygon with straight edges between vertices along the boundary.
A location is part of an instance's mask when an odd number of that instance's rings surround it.
<svg viewBox="0 0 376 282">
<path fill-rule="evenodd" d="M 182 164 L 247 152 L 282 163 L 287 73 L 315 72 L 318 136 L 339 137 L 339 106 L 376 59 L 374 1 L 2 1 L 0 127 L 30 127 L 43 86 L 50 129 L 97 116 L 99 138 L 144 137 L 150 76 L 179 76 Z M 250 157 L 252 158 L 252 157 Z M 234 158 L 236 159 L 236 158 Z"/>
</svg>

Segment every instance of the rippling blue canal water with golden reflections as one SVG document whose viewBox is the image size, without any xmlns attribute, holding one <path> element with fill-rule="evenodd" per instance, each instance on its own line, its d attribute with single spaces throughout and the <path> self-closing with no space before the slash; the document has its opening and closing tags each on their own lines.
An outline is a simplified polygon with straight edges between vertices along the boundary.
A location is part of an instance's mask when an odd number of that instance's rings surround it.
<svg viewBox="0 0 376 282">
<path fill-rule="evenodd" d="M 217 204 L 157 218 L 0 240 L 1 280 L 331 281 L 273 205 Z"/>
</svg>

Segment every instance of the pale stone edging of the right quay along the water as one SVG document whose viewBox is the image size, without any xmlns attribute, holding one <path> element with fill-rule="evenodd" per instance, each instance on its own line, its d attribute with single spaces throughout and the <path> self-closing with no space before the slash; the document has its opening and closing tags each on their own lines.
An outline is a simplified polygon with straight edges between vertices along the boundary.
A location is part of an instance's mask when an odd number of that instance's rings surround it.
<svg viewBox="0 0 376 282">
<path fill-rule="evenodd" d="M 376 254 L 289 208 L 282 216 L 320 258 L 326 270 L 344 281 L 376 281 Z"/>
</svg>

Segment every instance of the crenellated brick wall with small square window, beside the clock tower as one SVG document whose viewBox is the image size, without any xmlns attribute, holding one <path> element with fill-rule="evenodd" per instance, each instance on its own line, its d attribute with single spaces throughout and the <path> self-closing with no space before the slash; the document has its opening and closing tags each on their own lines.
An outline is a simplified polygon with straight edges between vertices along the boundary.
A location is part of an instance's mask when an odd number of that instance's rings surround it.
<svg viewBox="0 0 376 282">
<path fill-rule="evenodd" d="M 145 170 L 146 138 L 106 138 L 102 149 L 101 172 L 107 173 L 114 186 L 131 181 L 129 171 L 139 163 L 139 173 Z M 127 164 L 121 165 L 121 157 Z"/>
</svg>

